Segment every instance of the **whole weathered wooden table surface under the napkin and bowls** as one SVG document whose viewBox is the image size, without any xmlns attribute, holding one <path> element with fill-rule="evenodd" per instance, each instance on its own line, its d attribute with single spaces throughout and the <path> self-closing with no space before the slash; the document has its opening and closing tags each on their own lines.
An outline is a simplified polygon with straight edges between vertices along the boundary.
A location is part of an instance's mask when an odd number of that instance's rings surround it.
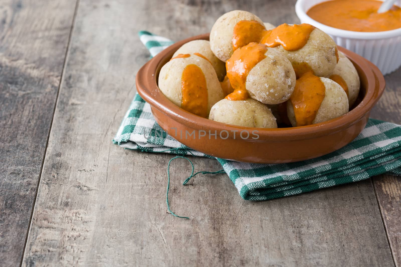
<svg viewBox="0 0 401 267">
<path fill-rule="evenodd" d="M 1 0 L 1 266 L 401 266 L 401 179 L 272 201 L 241 199 L 227 175 L 111 139 L 148 60 L 139 30 L 180 40 L 242 9 L 297 23 L 295 0 Z M 401 123 L 401 69 L 373 118 Z M 193 159 L 196 170 L 221 169 Z"/>
</svg>

